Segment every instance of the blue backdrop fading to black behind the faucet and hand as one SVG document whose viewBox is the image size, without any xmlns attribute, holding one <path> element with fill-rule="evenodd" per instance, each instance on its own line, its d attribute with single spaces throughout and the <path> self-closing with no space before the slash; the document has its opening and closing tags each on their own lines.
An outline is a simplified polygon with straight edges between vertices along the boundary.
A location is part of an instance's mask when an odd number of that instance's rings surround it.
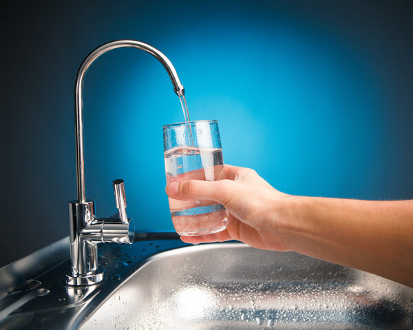
<svg viewBox="0 0 413 330">
<path fill-rule="evenodd" d="M 192 120 L 217 119 L 224 162 L 288 194 L 413 197 L 411 1 L 36 1 L 1 12 L 0 266 L 69 233 L 73 84 L 98 45 L 166 54 Z M 87 72 L 86 196 L 138 229 L 173 230 L 162 125 L 183 120 L 151 55 L 113 50 Z"/>
</svg>

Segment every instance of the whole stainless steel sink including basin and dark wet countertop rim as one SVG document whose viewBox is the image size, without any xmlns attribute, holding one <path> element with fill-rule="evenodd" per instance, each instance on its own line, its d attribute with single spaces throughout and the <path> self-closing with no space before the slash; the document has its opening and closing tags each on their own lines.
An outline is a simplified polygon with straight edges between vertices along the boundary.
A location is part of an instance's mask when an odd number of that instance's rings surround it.
<svg viewBox="0 0 413 330">
<path fill-rule="evenodd" d="M 68 287 L 67 238 L 0 269 L 0 329 L 413 329 L 413 289 L 293 252 L 104 244 L 98 285 Z"/>
</svg>

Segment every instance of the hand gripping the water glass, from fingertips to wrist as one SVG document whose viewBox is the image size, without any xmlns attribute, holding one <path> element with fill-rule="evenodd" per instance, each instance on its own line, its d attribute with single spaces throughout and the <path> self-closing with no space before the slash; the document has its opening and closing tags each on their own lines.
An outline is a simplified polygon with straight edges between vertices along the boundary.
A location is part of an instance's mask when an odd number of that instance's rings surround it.
<svg viewBox="0 0 413 330">
<path fill-rule="evenodd" d="M 215 200 L 229 211 L 228 227 L 204 236 L 181 236 L 186 243 L 240 240 L 252 247 L 286 250 L 282 227 L 284 202 L 290 197 L 277 191 L 253 169 L 224 165 L 226 179 L 169 182 L 166 192 L 176 200 Z"/>
</svg>

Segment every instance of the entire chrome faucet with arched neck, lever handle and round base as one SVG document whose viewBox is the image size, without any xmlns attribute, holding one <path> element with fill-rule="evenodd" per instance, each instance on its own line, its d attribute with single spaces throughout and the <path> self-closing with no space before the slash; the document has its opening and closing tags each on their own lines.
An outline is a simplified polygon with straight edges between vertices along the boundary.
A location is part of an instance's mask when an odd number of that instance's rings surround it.
<svg viewBox="0 0 413 330">
<path fill-rule="evenodd" d="M 67 275 L 67 285 L 94 285 L 103 280 L 103 270 L 98 269 L 98 243 L 125 243 L 134 241 L 134 225 L 126 215 L 126 198 L 123 180 L 115 180 L 114 194 L 119 219 L 96 218 L 93 200 L 85 194 L 85 158 L 83 149 L 83 81 L 90 65 L 102 54 L 115 48 L 132 47 L 145 50 L 162 63 L 169 74 L 173 90 L 178 96 L 184 95 L 184 86 L 167 56 L 147 43 L 136 40 L 116 40 L 105 43 L 91 52 L 81 64 L 74 85 L 75 132 L 76 132 L 76 178 L 77 200 L 69 203 L 70 258 L 72 274 Z"/>
</svg>

